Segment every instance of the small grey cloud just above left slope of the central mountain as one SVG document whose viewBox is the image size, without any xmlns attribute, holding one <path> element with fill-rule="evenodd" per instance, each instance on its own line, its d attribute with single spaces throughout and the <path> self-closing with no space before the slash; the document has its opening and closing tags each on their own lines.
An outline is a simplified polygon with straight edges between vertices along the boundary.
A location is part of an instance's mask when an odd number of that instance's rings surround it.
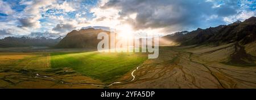
<svg viewBox="0 0 256 100">
<path fill-rule="evenodd" d="M 76 28 L 72 24 L 57 24 L 56 27 L 52 28 L 53 31 L 66 32 Z"/>
</svg>

